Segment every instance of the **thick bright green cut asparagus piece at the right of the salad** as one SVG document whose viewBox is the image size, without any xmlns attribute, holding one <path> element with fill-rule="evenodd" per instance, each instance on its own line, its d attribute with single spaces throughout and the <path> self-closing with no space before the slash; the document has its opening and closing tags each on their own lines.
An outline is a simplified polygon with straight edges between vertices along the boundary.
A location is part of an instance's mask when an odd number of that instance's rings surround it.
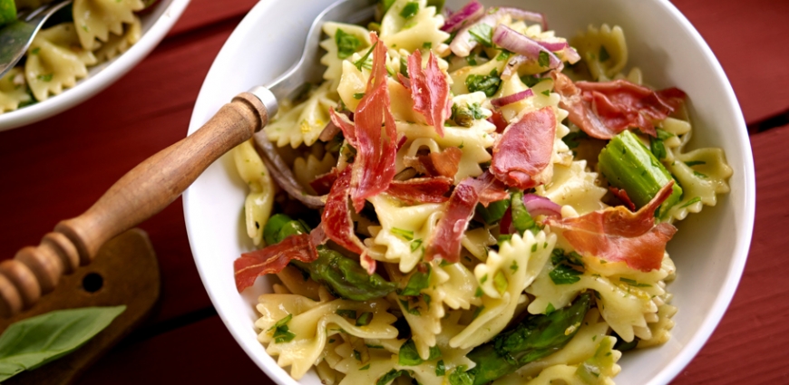
<svg viewBox="0 0 789 385">
<path fill-rule="evenodd" d="M 644 207 L 671 180 L 671 174 L 629 130 L 624 130 L 600 151 L 599 169 L 609 184 L 624 189 L 637 208 Z M 682 197 L 682 188 L 674 192 L 657 210 L 657 217 L 667 217 L 668 209 Z"/>
</svg>

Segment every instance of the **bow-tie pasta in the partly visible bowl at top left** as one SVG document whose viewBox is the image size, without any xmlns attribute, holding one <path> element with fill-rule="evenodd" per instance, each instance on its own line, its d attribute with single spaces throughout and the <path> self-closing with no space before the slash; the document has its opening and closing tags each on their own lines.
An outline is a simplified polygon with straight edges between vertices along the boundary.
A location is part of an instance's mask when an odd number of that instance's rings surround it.
<svg viewBox="0 0 789 385">
<path fill-rule="evenodd" d="M 52 0 L 0 0 L 13 17 Z M 112 60 L 140 40 L 138 12 L 156 0 L 74 0 L 35 35 L 24 59 L 0 78 L 0 113 L 46 101 L 88 76 L 88 68 Z"/>
</svg>

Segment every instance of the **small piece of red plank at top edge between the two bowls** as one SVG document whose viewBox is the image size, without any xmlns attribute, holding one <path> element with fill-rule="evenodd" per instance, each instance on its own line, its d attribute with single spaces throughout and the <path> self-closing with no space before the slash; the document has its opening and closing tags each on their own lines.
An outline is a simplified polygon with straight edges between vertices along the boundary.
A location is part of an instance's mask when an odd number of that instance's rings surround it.
<svg viewBox="0 0 789 385">
<path fill-rule="evenodd" d="M 172 26 L 169 35 L 183 34 L 206 25 L 237 18 L 247 14 L 257 3 L 258 0 L 191 0 L 178 23 Z"/>
</svg>

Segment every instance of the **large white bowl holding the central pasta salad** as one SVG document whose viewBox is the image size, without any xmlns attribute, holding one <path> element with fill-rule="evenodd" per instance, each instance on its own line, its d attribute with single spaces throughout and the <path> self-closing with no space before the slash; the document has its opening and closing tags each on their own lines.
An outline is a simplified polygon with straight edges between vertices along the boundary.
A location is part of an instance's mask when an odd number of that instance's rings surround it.
<svg viewBox="0 0 789 385">
<path fill-rule="evenodd" d="M 260 2 L 239 24 L 211 67 L 192 113 L 194 132 L 233 95 L 266 84 L 295 63 L 313 18 L 334 0 Z M 463 0 L 449 1 L 458 9 Z M 630 50 L 628 66 L 662 88 L 687 91 L 695 131 L 692 148 L 721 147 L 734 168 L 731 192 L 678 227 L 668 251 L 677 280 L 668 289 L 679 312 L 666 344 L 631 351 L 619 361 L 620 384 L 665 384 L 696 355 L 732 299 L 745 266 L 754 224 L 754 164 L 742 112 L 726 75 L 701 36 L 677 9 L 662 0 L 488 1 L 544 12 L 551 29 L 571 36 L 588 24 L 618 24 Z M 253 322 L 258 294 L 268 281 L 239 294 L 233 260 L 253 248 L 244 234 L 246 186 L 232 159 L 211 165 L 184 194 L 190 245 L 203 284 L 219 316 L 252 361 L 279 384 L 297 384 L 258 343 Z M 300 383 L 320 383 L 308 374 Z"/>
</svg>

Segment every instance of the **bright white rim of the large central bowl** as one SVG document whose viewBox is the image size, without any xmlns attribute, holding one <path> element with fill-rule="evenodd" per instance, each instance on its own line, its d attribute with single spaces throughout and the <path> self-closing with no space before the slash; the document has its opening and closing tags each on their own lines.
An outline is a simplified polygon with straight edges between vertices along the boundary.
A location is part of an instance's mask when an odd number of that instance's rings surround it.
<svg viewBox="0 0 789 385">
<path fill-rule="evenodd" d="M 249 24 L 254 24 L 255 21 L 260 17 L 260 14 L 265 11 L 268 5 L 265 4 L 266 2 L 259 2 L 258 5 L 252 8 L 249 11 L 247 16 L 241 21 L 241 23 L 236 27 L 233 33 L 229 36 L 228 41 L 222 47 L 222 50 L 217 55 L 217 59 L 215 60 L 214 64 L 211 66 L 211 70 L 206 76 L 206 80 L 209 79 L 212 72 L 218 71 L 215 70 L 215 65 L 218 64 L 219 58 L 222 57 L 223 53 L 226 50 L 229 50 L 230 45 L 239 37 L 239 35 L 248 34 Z M 687 20 L 684 14 L 682 14 L 675 5 L 671 4 L 667 0 L 656 0 L 655 1 L 657 6 L 662 6 L 664 9 L 673 15 L 677 24 L 684 29 L 692 40 L 692 43 L 696 44 L 697 47 L 701 49 L 701 53 L 705 56 L 705 58 L 709 61 L 710 68 L 715 73 L 716 79 L 723 81 L 723 87 L 725 88 L 725 99 L 728 102 L 726 106 L 729 110 L 729 116 L 735 118 L 733 120 L 733 125 L 737 129 L 735 131 L 736 139 L 739 140 L 741 143 L 750 143 L 750 140 L 747 135 L 747 130 L 745 127 L 745 119 L 742 113 L 742 109 L 740 108 L 739 102 L 736 99 L 734 89 L 732 88 L 731 82 L 729 82 L 726 73 L 723 70 L 723 67 L 718 62 L 715 54 L 712 52 L 712 49 L 707 45 L 704 38 L 701 34 L 696 31 L 696 28 Z M 203 83 L 203 87 L 206 86 L 206 82 Z M 198 100 L 200 100 L 200 96 L 203 94 L 205 89 L 201 87 L 200 94 L 198 96 Z M 244 90 L 239 90 L 244 91 Z M 197 106 L 197 105 L 196 105 Z M 198 130 L 203 123 L 203 115 L 201 115 L 201 111 L 195 109 L 193 111 L 191 120 L 190 120 L 190 130 L 188 134 L 191 134 L 195 130 Z M 195 121 L 195 120 L 200 120 Z M 726 310 L 729 304 L 734 297 L 736 288 L 740 282 L 742 274 L 745 271 L 745 262 L 747 260 L 748 251 L 750 248 L 752 236 L 753 236 L 753 229 L 754 229 L 754 221 L 755 221 L 755 168 L 754 168 L 754 159 L 753 159 L 753 152 L 750 145 L 742 146 L 742 156 L 743 156 L 743 163 L 738 165 L 739 168 L 737 172 L 742 172 L 743 181 L 744 181 L 744 191 L 743 191 L 743 203 L 745 204 L 743 208 L 743 217 L 742 222 L 739 224 L 742 228 L 742 231 L 737 232 L 737 239 L 736 239 L 736 247 L 733 251 L 733 258 L 731 258 L 727 266 L 726 276 L 724 277 L 723 281 L 723 289 L 716 293 L 715 301 L 713 302 L 712 306 L 710 307 L 710 311 L 705 314 L 705 317 L 700 320 L 701 322 L 696 322 L 699 324 L 697 327 L 697 332 L 689 339 L 689 342 L 682 348 L 682 350 L 670 359 L 666 366 L 664 366 L 660 371 L 658 371 L 657 375 L 652 379 L 648 380 L 648 385 L 660 385 L 660 384 L 667 384 L 671 380 L 675 379 L 677 375 L 683 371 L 687 365 L 696 357 L 698 351 L 705 345 L 705 343 L 709 340 L 712 333 L 715 331 L 717 325 L 723 318 L 723 315 L 726 313 Z M 195 226 L 195 222 L 193 221 L 194 218 L 191 217 L 190 211 L 190 189 L 184 192 L 183 196 L 183 210 L 184 210 L 184 219 L 185 225 L 187 227 L 187 234 L 190 238 L 190 248 L 192 251 L 192 255 L 195 258 L 195 263 L 198 267 L 198 272 L 200 274 L 200 279 L 202 280 L 204 286 L 206 287 L 206 291 L 209 294 L 209 298 L 212 303 L 217 307 L 217 311 L 219 314 L 220 319 L 225 324 L 225 327 L 228 329 L 230 334 L 239 343 L 239 346 L 242 350 L 244 350 L 248 357 L 254 361 L 258 367 L 264 371 L 269 378 L 277 382 L 278 384 L 287 384 L 287 385 L 298 385 L 301 382 L 297 380 L 293 380 L 287 371 L 278 367 L 276 361 L 268 356 L 268 360 L 263 360 L 262 357 L 258 357 L 257 352 L 252 351 L 251 345 L 248 341 L 248 333 L 243 333 L 238 331 L 232 327 L 232 323 L 229 317 L 238 317 L 239 314 L 236 313 L 225 313 L 224 307 L 220 304 L 219 298 L 215 298 L 215 294 L 212 293 L 209 287 L 209 275 L 211 274 L 209 271 L 205 269 L 203 265 L 200 264 L 200 257 L 198 256 L 198 247 L 195 243 L 194 235 L 197 232 Z M 254 343 L 259 343 L 253 341 Z"/>
</svg>

